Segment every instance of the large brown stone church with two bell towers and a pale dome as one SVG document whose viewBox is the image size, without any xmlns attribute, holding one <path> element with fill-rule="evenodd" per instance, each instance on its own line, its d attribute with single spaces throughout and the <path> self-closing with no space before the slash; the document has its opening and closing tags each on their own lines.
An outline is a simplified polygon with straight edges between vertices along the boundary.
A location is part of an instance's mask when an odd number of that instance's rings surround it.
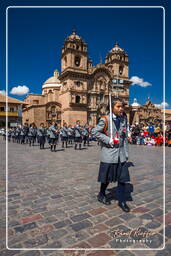
<svg viewBox="0 0 171 256">
<path fill-rule="evenodd" d="M 46 124 L 53 120 L 59 125 L 96 125 L 106 112 L 109 92 L 121 97 L 129 112 L 129 61 L 127 53 L 115 46 L 108 52 L 105 63 L 93 66 L 88 45 L 75 31 L 64 41 L 61 54 L 61 74 L 57 70 L 42 85 L 42 94 L 29 94 L 23 110 L 23 122 Z"/>
</svg>

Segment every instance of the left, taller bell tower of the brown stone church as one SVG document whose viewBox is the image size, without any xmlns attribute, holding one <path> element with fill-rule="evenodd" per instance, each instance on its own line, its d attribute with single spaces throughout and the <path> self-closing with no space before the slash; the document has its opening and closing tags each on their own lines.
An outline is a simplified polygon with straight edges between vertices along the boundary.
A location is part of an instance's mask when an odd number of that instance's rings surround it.
<svg viewBox="0 0 171 256">
<path fill-rule="evenodd" d="M 73 31 L 64 41 L 61 56 L 61 102 L 63 122 L 87 121 L 88 50 L 84 40 Z"/>
</svg>

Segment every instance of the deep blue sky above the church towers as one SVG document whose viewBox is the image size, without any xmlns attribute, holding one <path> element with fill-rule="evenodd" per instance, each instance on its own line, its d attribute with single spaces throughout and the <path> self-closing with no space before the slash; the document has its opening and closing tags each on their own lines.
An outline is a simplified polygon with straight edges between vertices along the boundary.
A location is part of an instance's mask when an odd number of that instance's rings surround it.
<svg viewBox="0 0 171 256">
<path fill-rule="evenodd" d="M 5 90 L 5 7 L 9 5 L 78 5 L 78 1 L 4 1 L 1 6 L 3 65 L 0 90 Z M 166 102 L 171 107 L 169 91 L 170 50 L 167 1 L 82 1 L 83 5 L 141 5 L 166 8 Z M 80 4 L 80 3 L 79 3 Z M 61 47 L 75 28 L 88 43 L 93 65 L 103 63 L 109 50 L 118 41 L 129 55 L 129 77 L 138 76 L 151 86 L 130 88 L 130 102 L 137 98 L 144 104 L 150 96 L 155 104 L 163 101 L 163 9 L 162 8 L 16 8 L 9 9 L 9 92 L 13 87 L 27 86 L 32 93 L 41 93 L 43 82 L 60 71 Z M 2 26 L 2 25 L 1 25 Z M 170 56 L 170 57 L 169 57 Z M 10 94 L 9 94 L 10 95 Z M 12 96 L 12 95 L 10 95 Z M 13 95 L 18 99 L 23 96 Z"/>
</svg>

